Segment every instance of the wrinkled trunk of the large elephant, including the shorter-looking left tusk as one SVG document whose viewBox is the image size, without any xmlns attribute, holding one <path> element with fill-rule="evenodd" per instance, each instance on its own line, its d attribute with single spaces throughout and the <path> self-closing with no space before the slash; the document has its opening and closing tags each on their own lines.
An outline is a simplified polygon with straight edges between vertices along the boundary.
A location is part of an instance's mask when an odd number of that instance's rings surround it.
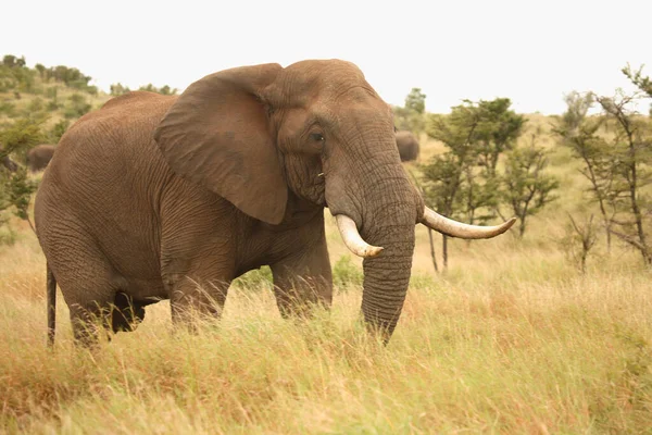
<svg viewBox="0 0 652 435">
<path fill-rule="evenodd" d="M 375 113 L 350 119 L 356 123 L 342 135 L 347 140 L 327 149 L 325 196 L 344 244 L 364 258 L 365 323 L 387 343 L 408 293 L 424 203 L 401 164 L 391 125 Z"/>
</svg>

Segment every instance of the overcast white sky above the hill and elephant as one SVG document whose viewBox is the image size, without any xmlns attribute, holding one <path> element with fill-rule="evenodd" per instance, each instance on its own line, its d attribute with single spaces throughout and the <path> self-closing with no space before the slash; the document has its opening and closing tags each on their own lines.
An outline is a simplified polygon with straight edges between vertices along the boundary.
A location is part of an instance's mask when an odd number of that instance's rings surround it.
<svg viewBox="0 0 652 435">
<path fill-rule="evenodd" d="M 509 97 L 518 112 L 561 113 L 563 95 L 629 89 L 652 75 L 652 0 L 14 0 L 0 54 L 121 82 L 184 89 L 227 67 L 303 59 L 354 62 L 392 104 L 412 87 L 430 112 Z"/>
</svg>

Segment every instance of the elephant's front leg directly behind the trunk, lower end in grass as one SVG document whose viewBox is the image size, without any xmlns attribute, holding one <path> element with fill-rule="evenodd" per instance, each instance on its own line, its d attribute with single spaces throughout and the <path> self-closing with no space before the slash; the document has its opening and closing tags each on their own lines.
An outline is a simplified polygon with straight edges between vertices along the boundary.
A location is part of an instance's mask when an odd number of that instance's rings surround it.
<svg viewBox="0 0 652 435">
<path fill-rule="evenodd" d="M 333 303 L 333 274 L 326 237 L 316 245 L 293 252 L 271 264 L 274 295 L 280 315 L 310 315 L 314 306 L 326 309 Z"/>
</svg>

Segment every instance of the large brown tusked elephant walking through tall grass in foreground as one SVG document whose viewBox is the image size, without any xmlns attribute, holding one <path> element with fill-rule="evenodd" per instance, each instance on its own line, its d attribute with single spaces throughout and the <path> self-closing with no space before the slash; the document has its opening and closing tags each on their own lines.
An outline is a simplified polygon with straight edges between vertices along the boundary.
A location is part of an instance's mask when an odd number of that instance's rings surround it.
<svg viewBox="0 0 652 435">
<path fill-rule="evenodd" d="M 463 238 L 514 223 L 467 225 L 425 207 L 390 105 L 347 61 L 240 66 L 179 96 L 113 98 L 63 135 L 36 196 L 48 344 L 58 284 L 83 346 L 133 331 L 163 299 L 173 324 L 195 331 L 198 318 L 220 318 L 234 278 L 262 265 L 283 318 L 329 309 L 325 208 L 364 258 L 361 318 L 386 344 L 417 223 Z M 90 319 L 102 321 L 85 327 Z"/>
</svg>

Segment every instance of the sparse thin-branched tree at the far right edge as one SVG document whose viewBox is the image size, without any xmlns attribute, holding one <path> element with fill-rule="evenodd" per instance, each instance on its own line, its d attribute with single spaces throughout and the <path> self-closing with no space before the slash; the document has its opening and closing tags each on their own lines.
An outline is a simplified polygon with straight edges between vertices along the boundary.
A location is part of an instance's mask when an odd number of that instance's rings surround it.
<svg viewBox="0 0 652 435">
<path fill-rule="evenodd" d="M 607 248 L 613 234 L 652 265 L 652 245 L 647 234 L 652 206 L 647 194 L 652 184 L 652 125 L 636 111 L 637 102 L 652 98 L 652 82 L 629 65 L 622 72 L 639 91 L 625 94 L 618 89 L 613 97 L 573 92 L 566 96 L 567 111 L 555 132 L 584 163 L 581 173 L 600 207 Z M 593 102 L 602 113 L 589 119 L 587 112 Z"/>
</svg>

